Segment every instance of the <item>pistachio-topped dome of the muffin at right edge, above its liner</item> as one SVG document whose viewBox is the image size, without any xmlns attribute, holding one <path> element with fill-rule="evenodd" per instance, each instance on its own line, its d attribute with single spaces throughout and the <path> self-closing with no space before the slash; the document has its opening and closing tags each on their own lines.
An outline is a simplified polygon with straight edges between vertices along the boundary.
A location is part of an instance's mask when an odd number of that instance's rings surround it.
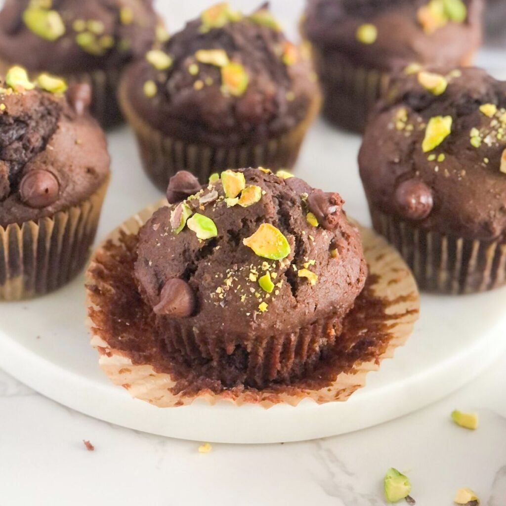
<svg viewBox="0 0 506 506">
<path fill-rule="evenodd" d="M 384 213 L 442 234 L 504 238 L 506 82 L 477 68 L 399 76 L 369 120 L 359 165 Z"/>
</svg>

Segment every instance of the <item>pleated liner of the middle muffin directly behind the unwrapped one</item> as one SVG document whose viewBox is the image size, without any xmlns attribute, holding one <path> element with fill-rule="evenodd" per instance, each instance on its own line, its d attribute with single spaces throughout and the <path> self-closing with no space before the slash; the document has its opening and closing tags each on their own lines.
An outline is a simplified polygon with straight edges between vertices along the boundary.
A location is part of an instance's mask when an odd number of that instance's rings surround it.
<svg viewBox="0 0 506 506">
<path fill-rule="evenodd" d="M 309 126 L 320 110 L 321 99 L 315 95 L 306 118 L 287 134 L 262 144 L 231 147 L 193 143 L 153 129 L 131 106 L 124 81 L 119 87 L 119 103 L 136 134 L 146 174 L 165 191 L 168 180 L 181 170 L 190 171 L 200 182 L 206 182 L 211 174 L 227 168 L 291 168 L 299 156 Z"/>
</svg>

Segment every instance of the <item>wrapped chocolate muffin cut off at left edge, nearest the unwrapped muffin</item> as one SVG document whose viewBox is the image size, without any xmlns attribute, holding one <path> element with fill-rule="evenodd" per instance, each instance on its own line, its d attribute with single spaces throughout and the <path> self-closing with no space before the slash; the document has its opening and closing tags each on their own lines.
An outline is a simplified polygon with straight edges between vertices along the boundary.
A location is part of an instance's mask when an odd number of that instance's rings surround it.
<svg viewBox="0 0 506 506">
<path fill-rule="evenodd" d="M 109 179 L 90 100 L 21 67 L 0 80 L 0 300 L 54 290 L 87 260 Z"/>
</svg>

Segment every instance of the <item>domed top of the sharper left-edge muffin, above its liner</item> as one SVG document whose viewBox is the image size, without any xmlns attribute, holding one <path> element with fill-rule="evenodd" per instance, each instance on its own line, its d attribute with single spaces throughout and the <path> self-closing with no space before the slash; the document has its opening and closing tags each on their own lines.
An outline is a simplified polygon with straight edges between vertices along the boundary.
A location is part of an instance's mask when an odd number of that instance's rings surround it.
<svg viewBox="0 0 506 506">
<path fill-rule="evenodd" d="M 49 90 L 49 91 L 48 91 Z M 77 205 L 109 174 L 106 141 L 87 112 L 88 85 L 13 67 L 0 78 L 0 226 Z"/>
</svg>

